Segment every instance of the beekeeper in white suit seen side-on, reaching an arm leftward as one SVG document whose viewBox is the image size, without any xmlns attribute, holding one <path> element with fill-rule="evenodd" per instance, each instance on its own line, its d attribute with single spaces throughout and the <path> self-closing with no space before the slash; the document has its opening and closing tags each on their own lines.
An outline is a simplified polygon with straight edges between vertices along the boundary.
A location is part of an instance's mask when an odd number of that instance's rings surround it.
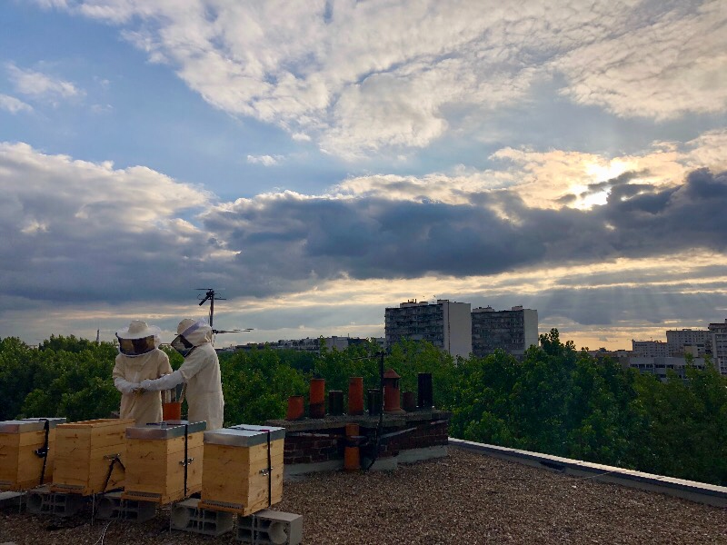
<svg viewBox="0 0 727 545">
<path fill-rule="evenodd" d="M 220 361 L 212 346 L 212 328 L 204 320 L 185 318 L 176 328 L 172 346 L 184 356 L 175 372 L 154 381 L 142 381 L 145 391 L 167 390 L 186 382 L 187 419 L 206 421 L 207 430 L 222 428 L 224 398 Z"/>
</svg>

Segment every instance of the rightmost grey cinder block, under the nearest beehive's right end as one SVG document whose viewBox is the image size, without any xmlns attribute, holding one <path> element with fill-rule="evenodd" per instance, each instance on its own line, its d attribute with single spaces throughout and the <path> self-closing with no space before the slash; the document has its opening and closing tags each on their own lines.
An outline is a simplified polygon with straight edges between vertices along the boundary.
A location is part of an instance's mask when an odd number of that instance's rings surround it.
<svg viewBox="0 0 727 545">
<path fill-rule="evenodd" d="M 303 542 L 303 516 L 264 509 L 238 517 L 236 538 L 252 545 L 299 545 Z"/>
</svg>

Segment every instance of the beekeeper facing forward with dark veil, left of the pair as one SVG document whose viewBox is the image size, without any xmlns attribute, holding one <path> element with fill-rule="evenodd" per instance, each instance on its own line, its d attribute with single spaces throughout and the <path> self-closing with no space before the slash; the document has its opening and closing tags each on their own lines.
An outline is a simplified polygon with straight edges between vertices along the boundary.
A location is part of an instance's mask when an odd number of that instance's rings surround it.
<svg viewBox="0 0 727 545">
<path fill-rule="evenodd" d="M 160 332 L 141 320 L 116 332 L 119 353 L 112 376 L 116 390 L 121 391 L 119 416 L 141 425 L 162 420 L 162 396 L 158 391 L 142 391 L 139 383 L 172 372 L 169 356 L 159 350 Z"/>
</svg>

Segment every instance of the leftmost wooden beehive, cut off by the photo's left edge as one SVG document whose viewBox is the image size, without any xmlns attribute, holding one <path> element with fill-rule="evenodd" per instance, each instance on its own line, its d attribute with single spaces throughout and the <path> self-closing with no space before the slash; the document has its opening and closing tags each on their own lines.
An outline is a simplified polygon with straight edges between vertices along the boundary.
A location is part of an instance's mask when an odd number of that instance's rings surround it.
<svg viewBox="0 0 727 545">
<path fill-rule="evenodd" d="M 25 490 L 53 479 L 55 426 L 63 422 L 65 418 L 0 421 L 0 490 Z"/>
</svg>

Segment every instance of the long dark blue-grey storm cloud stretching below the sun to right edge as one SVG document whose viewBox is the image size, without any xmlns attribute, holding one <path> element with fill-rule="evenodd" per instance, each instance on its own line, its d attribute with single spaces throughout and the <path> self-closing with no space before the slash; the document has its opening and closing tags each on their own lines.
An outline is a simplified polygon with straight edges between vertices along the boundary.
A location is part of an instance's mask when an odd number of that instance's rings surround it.
<svg viewBox="0 0 727 545">
<path fill-rule="evenodd" d="M 598 263 L 696 247 L 725 250 L 727 174 L 702 169 L 668 189 L 615 178 L 589 211 L 534 209 L 515 193 L 479 193 L 477 205 L 383 198 L 244 201 L 204 217 L 207 230 L 261 271 L 305 278 L 485 275 L 528 265 Z"/>
</svg>

